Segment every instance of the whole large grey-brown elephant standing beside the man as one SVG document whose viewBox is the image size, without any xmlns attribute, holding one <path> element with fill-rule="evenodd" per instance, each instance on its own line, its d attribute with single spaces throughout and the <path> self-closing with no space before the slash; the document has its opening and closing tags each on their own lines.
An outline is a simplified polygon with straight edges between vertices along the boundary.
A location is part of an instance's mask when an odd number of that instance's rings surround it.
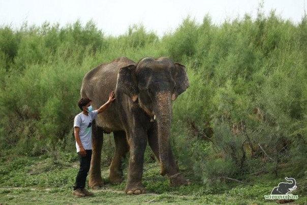
<svg viewBox="0 0 307 205">
<path fill-rule="evenodd" d="M 171 101 L 189 87 L 185 66 L 166 57 L 143 58 L 137 64 L 126 57 L 102 64 L 83 78 L 81 97 L 92 100 L 94 109 L 115 90 L 116 100 L 92 123 L 93 155 L 89 187 L 103 185 L 100 162 L 103 132 L 113 132 L 115 154 L 110 166 L 110 182 L 121 182 L 121 163 L 130 150 L 127 194 L 145 193 L 142 186 L 143 160 L 147 142 L 173 186 L 187 185 L 169 144 Z M 153 120 L 156 115 L 156 120 Z"/>
</svg>

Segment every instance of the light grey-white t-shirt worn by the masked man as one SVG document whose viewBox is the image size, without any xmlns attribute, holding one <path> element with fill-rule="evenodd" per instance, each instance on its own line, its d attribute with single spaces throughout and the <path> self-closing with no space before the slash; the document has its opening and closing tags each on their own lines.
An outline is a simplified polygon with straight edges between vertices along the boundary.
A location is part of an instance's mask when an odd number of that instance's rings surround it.
<svg viewBox="0 0 307 205">
<path fill-rule="evenodd" d="M 82 112 L 77 114 L 74 119 L 74 127 L 79 128 L 79 137 L 85 150 L 91 150 L 91 121 L 97 117 L 98 110 L 93 110 L 88 115 Z M 77 152 L 80 152 L 79 145 L 76 142 Z"/>
</svg>

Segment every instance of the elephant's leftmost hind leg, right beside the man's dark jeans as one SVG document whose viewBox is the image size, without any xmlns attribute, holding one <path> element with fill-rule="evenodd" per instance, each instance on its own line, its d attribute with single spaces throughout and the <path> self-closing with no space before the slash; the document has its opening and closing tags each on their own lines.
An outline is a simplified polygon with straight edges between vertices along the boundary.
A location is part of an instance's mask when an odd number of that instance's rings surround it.
<svg viewBox="0 0 307 205">
<path fill-rule="evenodd" d="M 88 186 L 92 189 L 99 189 L 104 185 L 101 177 L 101 150 L 103 144 L 103 130 L 96 126 L 95 120 L 92 122 L 92 155 L 89 169 Z"/>
</svg>

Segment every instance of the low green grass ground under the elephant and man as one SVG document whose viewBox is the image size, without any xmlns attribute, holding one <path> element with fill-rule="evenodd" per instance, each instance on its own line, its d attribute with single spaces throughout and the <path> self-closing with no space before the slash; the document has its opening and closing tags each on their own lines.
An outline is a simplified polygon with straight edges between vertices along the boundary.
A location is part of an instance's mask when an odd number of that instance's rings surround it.
<svg viewBox="0 0 307 205">
<path fill-rule="evenodd" d="M 283 178 L 270 174 L 246 177 L 245 185 L 239 182 L 226 182 L 204 186 L 193 177 L 188 169 L 181 170 L 191 180 L 191 185 L 171 187 L 166 177 L 159 174 L 156 163 L 146 163 L 143 185 L 146 194 L 126 195 L 126 182 L 106 184 L 100 190 L 93 190 L 94 197 L 77 198 L 72 195 L 72 186 L 78 171 L 78 162 L 67 162 L 63 155 L 58 164 L 50 158 L 24 157 L 5 162 L 0 168 L 0 204 L 275 204 L 264 199 L 273 187 Z M 181 166 L 180 166 L 181 167 Z M 108 182 L 108 167 L 102 167 L 102 175 Z M 125 170 L 125 178 L 127 168 Z M 295 201 L 307 201 L 305 179 L 296 179 Z"/>
</svg>

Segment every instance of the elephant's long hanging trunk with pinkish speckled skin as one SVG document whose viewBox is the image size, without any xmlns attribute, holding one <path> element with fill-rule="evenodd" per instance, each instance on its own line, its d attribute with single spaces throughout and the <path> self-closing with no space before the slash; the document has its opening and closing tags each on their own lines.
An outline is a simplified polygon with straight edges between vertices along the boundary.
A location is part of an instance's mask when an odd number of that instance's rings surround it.
<svg viewBox="0 0 307 205">
<path fill-rule="evenodd" d="M 156 94 L 155 114 L 158 126 L 159 158 L 161 162 L 161 174 L 168 173 L 169 137 L 171 129 L 172 109 L 171 93 L 167 91 Z"/>
</svg>

